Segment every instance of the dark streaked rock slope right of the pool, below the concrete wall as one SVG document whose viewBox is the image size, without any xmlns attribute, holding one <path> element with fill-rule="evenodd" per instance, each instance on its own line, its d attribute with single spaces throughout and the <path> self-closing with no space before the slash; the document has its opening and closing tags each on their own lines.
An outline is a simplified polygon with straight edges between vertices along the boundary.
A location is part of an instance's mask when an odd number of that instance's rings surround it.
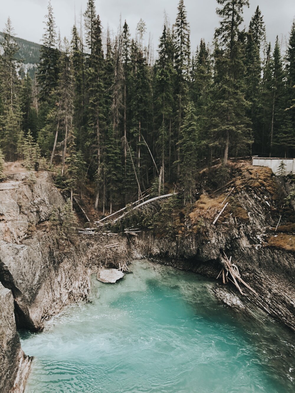
<svg viewBox="0 0 295 393">
<path fill-rule="evenodd" d="M 277 180 L 267 173 L 282 190 Z M 285 195 L 280 198 L 284 198 Z M 247 219 L 225 214 L 225 217 L 213 225 L 213 220 L 204 220 L 202 230 L 186 231 L 175 240 L 157 238 L 150 233 L 143 233 L 133 240 L 133 252 L 140 257 L 148 257 L 159 262 L 190 270 L 213 279 L 221 270 L 223 252 L 238 266 L 243 280 L 257 293 L 255 296 L 245 287 L 245 295 L 240 296 L 232 285 L 222 286 L 216 295 L 229 304 L 228 295 L 238 296 L 241 309 L 259 307 L 278 321 L 295 331 L 295 258 L 294 251 L 284 244 L 274 248 L 267 242 L 269 234 L 276 236 L 280 215 L 282 221 L 288 221 L 293 212 L 282 211 L 278 207 L 278 195 L 273 195 L 269 187 L 249 187 L 238 190 L 234 196 L 239 205 L 247 212 Z M 284 217 L 285 215 L 285 217 Z M 287 237 L 292 237 L 289 235 Z M 222 285 L 222 284 L 221 284 Z M 220 288 L 221 289 L 221 288 Z M 234 302 L 238 307 L 239 302 Z"/>
</svg>

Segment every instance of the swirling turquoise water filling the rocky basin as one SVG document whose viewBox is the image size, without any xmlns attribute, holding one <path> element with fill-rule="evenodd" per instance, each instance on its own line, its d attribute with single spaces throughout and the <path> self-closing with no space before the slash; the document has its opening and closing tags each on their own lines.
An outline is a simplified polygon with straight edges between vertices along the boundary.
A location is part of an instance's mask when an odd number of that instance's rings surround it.
<svg viewBox="0 0 295 393">
<path fill-rule="evenodd" d="M 266 316 L 243 320 L 199 275 L 147 261 L 131 269 L 114 285 L 93 278 L 90 303 L 21 334 L 35 356 L 26 393 L 294 392 L 288 331 Z"/>
</svg>

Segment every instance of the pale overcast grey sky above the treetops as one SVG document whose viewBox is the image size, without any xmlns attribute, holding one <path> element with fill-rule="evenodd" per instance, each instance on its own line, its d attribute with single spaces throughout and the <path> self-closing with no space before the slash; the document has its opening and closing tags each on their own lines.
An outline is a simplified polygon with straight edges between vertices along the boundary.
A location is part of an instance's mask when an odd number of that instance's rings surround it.
<svg viewBox="0 0 295 393">
<path fill-rule="evenodd" d="M 273 45 L 275 37 L 279 35 L 283 42 L 286 42 L 286 36 L 295 17 L 295 0 L 250 0 L 250 2 L 250 8 L 245 9 L 244 24 L 248 26 L 251 16 L 259 5 L 264 15 L 267 39 Z M 0 30 L 3 31 L 7 17 L 10 16 L 17 37 L 41 42 L 47 0 L 2 0 L 1 3 Z M 162 31 L 164 10 L 173 23 L 178 0 L 96 0 L 95 3 L 104 29 L 109 25 L 109 28 L 116 32 L 121 13 L 123 22 L 127 20 L 132 35 L 135 35 L 136 24 L 140 18 L 143 18 L 156 47 Z M 212 41 L 219 20 L 215 13 L 217 2 L 216 0 L 184 0 L 184 3 L 194 50 L 201 38 L 205 38 L 206 42 Z M 86 5 L 87 0 L 52 0 L 56 25 L 62 37 L 70 37 L 74 24 L 74 9 L 76 8 L 76 20 L 79 24 L 81 9 L 84 12 Z"/>
</svg>

